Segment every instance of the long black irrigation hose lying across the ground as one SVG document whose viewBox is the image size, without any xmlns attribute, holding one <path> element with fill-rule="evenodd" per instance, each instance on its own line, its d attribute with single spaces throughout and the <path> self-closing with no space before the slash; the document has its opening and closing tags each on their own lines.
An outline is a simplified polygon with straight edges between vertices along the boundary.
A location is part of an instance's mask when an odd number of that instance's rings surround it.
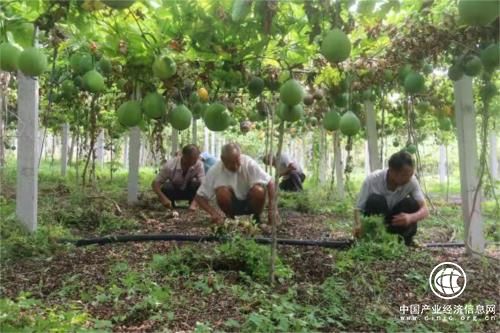
<svg viewBox="0 0 500 333">
<path fill-rule="evenodd" d="M 75 246 L 85 246 L 91 244 L 110 244 L 124 242 L 145 242 L 145 241 L 180 241 L 180 242 L 225 242 L 230 238 L 220 236 L 200 236 L 200 235 L 172 235 L 172 234 L 143 234 L 143 235 L 117 235 L 98 238 L 69 240 L 63 239 L 61 242 L 73 243 Z M 271 238 L 257 237 L 250 238 L 259 244 L 270 244 Z M 300 246 L 320 246 L 335 249 L 347 249 L 354 243 L 353 240 L 307 240 L 307 239 L 284 239 L 278 238 L 278 244 L 300 245 Z M 425 247 L 463 247 L 464 243 L 429 243 Z"/>
</svg>

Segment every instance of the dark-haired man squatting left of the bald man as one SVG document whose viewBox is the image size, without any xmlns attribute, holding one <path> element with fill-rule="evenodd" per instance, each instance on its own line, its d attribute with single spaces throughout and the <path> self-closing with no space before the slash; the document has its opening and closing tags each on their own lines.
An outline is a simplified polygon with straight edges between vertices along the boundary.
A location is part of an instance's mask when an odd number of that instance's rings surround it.
<svg viewBox="0 0 500 333">
<path fill-rule="evenodd" d="M 195 210 L 193 199 L 204 178 L 200 150 L 190 144 L 162 166 L 151 186 L 166 208 L 175 208 L 176 200 L 188 200 L 189 209 Z"/>
</svg>

